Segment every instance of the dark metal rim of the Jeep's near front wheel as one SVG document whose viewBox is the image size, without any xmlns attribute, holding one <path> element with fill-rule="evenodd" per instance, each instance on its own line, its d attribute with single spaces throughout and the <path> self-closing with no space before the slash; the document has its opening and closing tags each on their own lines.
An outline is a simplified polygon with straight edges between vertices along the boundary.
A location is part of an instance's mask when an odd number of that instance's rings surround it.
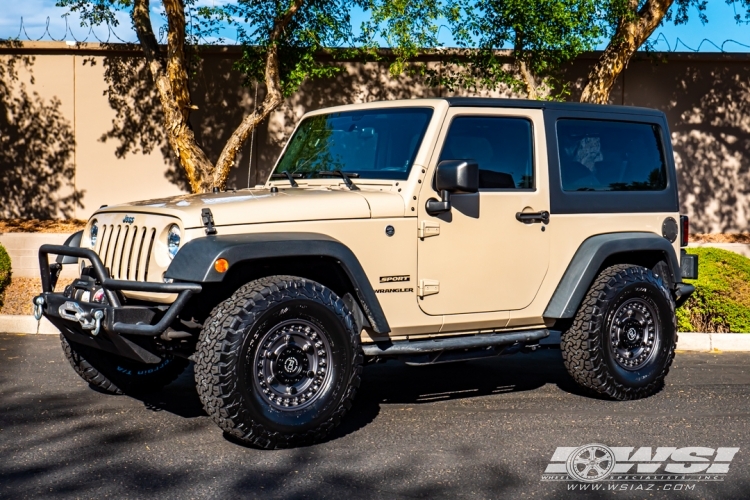
<svg viewBox="0 0 750 500">
<path fill-rule="evenodd" d="M 253 384 L 273 408 L 300 410 L 323 393 L 331 376 L 330 359 L 331 346 L 320 327 L 304 319 L 284 321 L 259 342 Z"/>
</svg>

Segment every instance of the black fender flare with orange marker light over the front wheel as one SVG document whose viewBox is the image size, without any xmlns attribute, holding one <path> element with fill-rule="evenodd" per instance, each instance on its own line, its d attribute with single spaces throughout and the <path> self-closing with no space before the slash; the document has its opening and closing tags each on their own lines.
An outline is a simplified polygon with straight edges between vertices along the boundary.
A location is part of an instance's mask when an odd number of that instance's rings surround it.
<svg viewBox="0 0 750 500">
<path fill-rule="evenodd" d="M 214 269 L 216 259 L 230 266 L 266 258 L 323 256 L 337 261 L 349 278 L 373 330 L 391 331 L 375 291 L 354 253 L 340 241 L 317 233 L 255 233 L 196 238 L 177 252 L 165 278 L 196 283 L 219 283 L 226 273 Z"/>
</svg>

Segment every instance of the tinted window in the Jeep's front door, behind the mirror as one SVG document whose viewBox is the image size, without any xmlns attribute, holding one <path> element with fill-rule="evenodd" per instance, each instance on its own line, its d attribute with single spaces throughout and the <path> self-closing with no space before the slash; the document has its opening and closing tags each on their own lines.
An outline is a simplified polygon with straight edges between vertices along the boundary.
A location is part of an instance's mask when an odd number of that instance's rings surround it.
<svg viewBox="0 0 750 500">
<path fill-rule="evenodd" d="M 474 160 L 479 189 L 533 189 L 531 122 L 525 118 L 459 116 L 445 137 L 439 161 Z"/>
</svg>

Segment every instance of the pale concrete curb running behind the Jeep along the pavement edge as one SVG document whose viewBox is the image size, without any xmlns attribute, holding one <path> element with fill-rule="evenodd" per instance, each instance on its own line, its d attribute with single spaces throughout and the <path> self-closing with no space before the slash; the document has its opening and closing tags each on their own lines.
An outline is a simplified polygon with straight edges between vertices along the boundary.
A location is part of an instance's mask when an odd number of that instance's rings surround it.
<svg viewBox="0 0 750 500">
<path fill-rule="evenodd" d="M 37 321 L 33 316 L 0 314 L 0 333 L 27 335 L 52 334 L 60 331 L 46 318 Z M 559 344 L 559 336 L 550 335 L 542 344 Z M 750 334 L 680 332 L 677 351 L 682 352 L 750 352 Z"/>
</svg>

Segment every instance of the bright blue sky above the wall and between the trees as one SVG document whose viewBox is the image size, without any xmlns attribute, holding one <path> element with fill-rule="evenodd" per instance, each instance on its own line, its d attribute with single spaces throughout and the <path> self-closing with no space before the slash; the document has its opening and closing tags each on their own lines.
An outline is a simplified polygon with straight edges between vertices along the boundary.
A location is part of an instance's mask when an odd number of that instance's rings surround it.
<svg viewBox="0 0 750 500">
<path fill-rule="evenodd" d="M 225 0 L 200 0 L 201 3 L 211 4 L 219 3 Z M 55 0 L 0 0 L 2 4 L 2 14 L 0 14 L 0 38 L 14 38 L 19 35 L 21 18 L 23 18 L 23 27 L 25 32 L 20 32 L 20 38 L 49 40 L 83 40 L 96 41 L 88 33 L 87 28 L 79 26 L 77 18 L 71 15 L 68 17 L 68 28 L 66 32 L 66 22 L 63 18 L 65 9 L 55 7 Z M 160 8 L 159 2 L 153 2 L 155 9 L 153 19 L 159 19 L 156 12 Z M 691 12 L 691 20 L 686 25 L 674 26 L 669 23 L 658 28 L 652 37 L 656 41 L 657 50 L 685 51 L 698 49 L 701 52 L 715 52 L 719 49 L 705 40 L 710 40 L 719 47 L 723 44 L 723 49 L 727 52 L 750 52 L 750 26 L 737 25 L 733 19 L 734 10 L 731 6 L 726 5 L 724 0 L 709 0 L 707 16 L 708 23 L 703 25 L 698 20 L 695 11 Z M 47 19 L 49 18 L 49 27 Z M 358 26 L 364 14 L 355 13 L 353 24 Z M 158 27 L 157 27 L 158 29 Z M 127 17 L 122 17 L 121 24 L 115 30 L 117 36 L 125 41 L 135 41 L 135 33 L 130 28 L 130 22 Z M 106 28 L 96 28 L 95 34 L 102 40 L 108 37 Z M 225 33 L 225 37 L 231 42 L 233 33 Z M 447 29 L 441 30 L 441 42 L 446 46 L 451 45 L 451 38 Z M 738 43 L 727 42 L 734 40 Z M 110 41 L 116 42 L 114 37 Z M 726 43 L 725 43 L 726 42 Z M 742 46 L 740 44 L 744 44 Z"/>
</svg>

